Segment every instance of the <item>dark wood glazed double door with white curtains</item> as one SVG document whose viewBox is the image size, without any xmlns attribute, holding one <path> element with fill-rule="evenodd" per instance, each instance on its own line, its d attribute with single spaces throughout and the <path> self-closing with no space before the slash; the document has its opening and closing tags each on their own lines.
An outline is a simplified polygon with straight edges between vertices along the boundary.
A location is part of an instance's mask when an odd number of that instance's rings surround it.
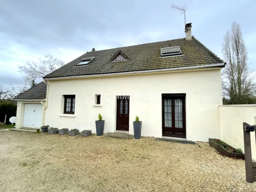
<svg viewBox="0 0 256 192">
<path fill-rule="evenodd" d="M 163 136 L 186 138 L 186 94 L 162 94 Z"/>
</svg>

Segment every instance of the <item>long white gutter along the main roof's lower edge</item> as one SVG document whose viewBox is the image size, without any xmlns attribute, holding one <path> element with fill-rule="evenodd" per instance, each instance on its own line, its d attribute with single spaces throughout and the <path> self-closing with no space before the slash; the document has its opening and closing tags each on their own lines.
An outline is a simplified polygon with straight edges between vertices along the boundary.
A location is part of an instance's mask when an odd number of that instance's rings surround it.
<svg viewBox="0 0 256 192">
<path fill-rule="evenodd" d="M 80 75 L 80 76 L 65 76 L 65 77 L 49 77 L 44 78 L 46 80 L 58 80 L 58 79 L 70 79 L 70 78 L 84 78 L 84 77 L 100 77 L 100 76 L 118 76 L 118 75 L 129 75 L 129 74 L 140 74 L 140 73 L 156 73 L 166 71 L 180 71 L 189 69 L 200 69 L 200 68 L 214 68 L 214 67 L 225 67 L 226 63 L 217 63 L 210 65 L 190 66 L 190 67 L 178 67 L 178 68 L 167 68 L 167 69 L 153 69 L 143 71 L 129 71 L 121 73 L 106 73 L 106 74 L 95 74 L 95 75 Z"/>
</svg>

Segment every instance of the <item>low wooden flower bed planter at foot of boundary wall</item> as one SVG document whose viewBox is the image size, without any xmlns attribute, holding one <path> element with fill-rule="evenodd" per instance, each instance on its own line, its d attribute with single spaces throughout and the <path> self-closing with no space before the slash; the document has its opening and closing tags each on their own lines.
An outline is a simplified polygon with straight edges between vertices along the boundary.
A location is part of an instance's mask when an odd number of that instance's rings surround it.
<svg viewBox="0 0 256 192">
<path fill-rule="evenodd" d="M 225 143 L 219 139 L 209 139 L 209 144 L 225 156 L 238 158 L 238 159 L 244 159 L 244 154 L 243 154 L 242 149 L 233 148 L 230 145 L 228 145 L 227 143 Z"/>
</svg>

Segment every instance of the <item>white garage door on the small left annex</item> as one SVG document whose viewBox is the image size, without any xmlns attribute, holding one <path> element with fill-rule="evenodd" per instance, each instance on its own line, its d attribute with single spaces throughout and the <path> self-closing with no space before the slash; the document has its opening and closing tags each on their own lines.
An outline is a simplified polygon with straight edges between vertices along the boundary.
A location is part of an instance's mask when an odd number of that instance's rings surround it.
<svg viewBox="0 0 256 192">
<path fill-rule="evenodd" d="M 42 123 L 42 104 L 25 103 L 23 127 L 39 129 Z"/>
</svg>

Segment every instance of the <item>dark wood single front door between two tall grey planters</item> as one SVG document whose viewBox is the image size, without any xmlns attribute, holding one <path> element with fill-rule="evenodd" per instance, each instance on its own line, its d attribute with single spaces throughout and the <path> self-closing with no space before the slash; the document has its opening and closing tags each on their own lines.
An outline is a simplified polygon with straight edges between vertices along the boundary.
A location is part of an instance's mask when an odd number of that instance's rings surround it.
<svg viewBox="0 0 256 192">
<path fill-rule="evenodd" d="M 116 97 L 116 130 L 129 131 L 130 97 L 128 95 Z"/>
</svg>

